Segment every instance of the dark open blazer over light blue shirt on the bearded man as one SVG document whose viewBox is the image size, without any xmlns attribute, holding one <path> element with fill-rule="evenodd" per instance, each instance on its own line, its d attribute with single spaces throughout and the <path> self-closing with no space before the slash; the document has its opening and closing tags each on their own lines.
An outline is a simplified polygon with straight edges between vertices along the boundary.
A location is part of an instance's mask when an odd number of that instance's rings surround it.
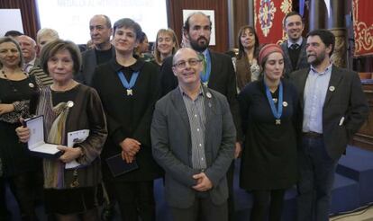
<svg viewBox="0 0 373 221">
<path fill-rule="evenodd" d="M 291 73 L 304 112 L 305 81 L 310 68 Z M 331 87 L 334 89 L 331 90 Z M 341 124 L 341 118 L 344 121 Z M 323 104 L 323 141 L 333 159 L 341 157 L 350 138 L 368 117 L 368 103 L 356 72 L 332 66 L 332 75 Z M 341 125 L 340 125 L 341 124 Z M 301 126 L 300 126 L 301 127 Z"/>
</svg>

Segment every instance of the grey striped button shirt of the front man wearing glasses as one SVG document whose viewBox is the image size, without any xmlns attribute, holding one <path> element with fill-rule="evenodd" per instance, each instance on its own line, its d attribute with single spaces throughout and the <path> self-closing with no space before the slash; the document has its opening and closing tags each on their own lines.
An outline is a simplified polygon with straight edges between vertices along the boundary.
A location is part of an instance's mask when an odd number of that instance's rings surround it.
<svg viewBox="0 0 373 221">
<path fill-rule="evenodd" d="M 205 161 L 205 95 L 201 88 L 196 100 L 193 101 L 187 93 L 182 91 L 181 93 L 187 108 L 190 125 L 193 168 L 203 171 L 207 168 Z"/>
</svg>

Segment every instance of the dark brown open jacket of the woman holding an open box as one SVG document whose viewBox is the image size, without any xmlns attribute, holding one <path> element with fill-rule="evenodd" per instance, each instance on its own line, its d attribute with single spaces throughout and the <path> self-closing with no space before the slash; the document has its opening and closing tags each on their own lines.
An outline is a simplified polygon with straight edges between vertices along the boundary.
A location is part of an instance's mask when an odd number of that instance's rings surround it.
<svg viewBox="0 0 373 221">
<path fill-rule="evenodd" d="M 66 119 L 65 134 L 62 135 L 62 145 L 66 146 L 68 132 L 89 129 L 89 136 L 78 146 L 82 148 L 84 155 L 77 158 L 77 162 L 83 166 L 77 169 L 77 187 L 96 186 L 101 182 L 101 150 L 107 137 L 106 119 L 101 100 L 96 90 L 83 84 L 78 84 L 71 90 L 77 90 L 77 96 L 72 101 L 74 106 L 70 108 Z M 50 87 L 41 90 L 36 113 L 44 115 L 44 128 L 48 137 L 50 126 L 55 117 L 53 114 Z M 50 159 L 44 159 L 50 161 Z M 63 189 L 70 188 L 74 177 L 74 169 L 64 170 Z"/>
</svg>

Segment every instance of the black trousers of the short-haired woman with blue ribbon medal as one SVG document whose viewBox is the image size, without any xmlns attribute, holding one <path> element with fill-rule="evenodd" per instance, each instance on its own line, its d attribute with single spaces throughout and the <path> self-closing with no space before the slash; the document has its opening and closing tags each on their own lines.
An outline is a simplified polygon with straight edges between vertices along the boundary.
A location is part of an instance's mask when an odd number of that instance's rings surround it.
<svg viewBox="0 0 373 221">
<path fill-rule="evenodd" d="M 123 221 L 155 220 L 153 181 L 114 181 L 114 189 Z"/>
</svg>

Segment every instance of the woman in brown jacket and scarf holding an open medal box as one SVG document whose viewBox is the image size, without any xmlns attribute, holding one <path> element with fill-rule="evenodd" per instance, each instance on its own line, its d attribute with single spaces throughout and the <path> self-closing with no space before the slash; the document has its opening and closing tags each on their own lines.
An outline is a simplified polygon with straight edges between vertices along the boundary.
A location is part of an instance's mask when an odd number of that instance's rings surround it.
<svg viewBox="0 0 373 221">
<path fill-rule="evenodd" d="M 71 41 L 54 40 L 41 50 L 41 66 L 53 84 L 41 89 L 35 112 L 43 115 L 47 142 L 59 145 L 62 152 L 58 159 L 43 159 L 45 211 L 57 220 L 99 220 L 96 188 L 106 120 L 96 90 L 73 79 L 80 64 L 80 51 Z M 68 146 L 68 133 L 83 129 L 88 137 Z M 21 141 L 29 140 L 29 128 L 16 131 Z M 73 161 L 77 166 L 67 169 Z"/>
</svg>

